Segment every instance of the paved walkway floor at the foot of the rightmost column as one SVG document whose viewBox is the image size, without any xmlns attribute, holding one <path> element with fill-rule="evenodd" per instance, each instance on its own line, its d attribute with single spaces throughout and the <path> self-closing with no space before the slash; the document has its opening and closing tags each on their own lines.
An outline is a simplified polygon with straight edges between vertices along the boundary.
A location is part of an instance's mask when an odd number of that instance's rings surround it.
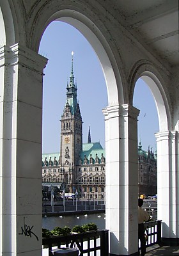
<svg viewBox="0 0 179 256">
<path fill-rule="evenodd" d="M 155 245 L 152 247 L 146 248 L 146 256 L 178 256 L 179 255 L 179 246 L 162 246 L 160 247 L 159 245 Z"/>
</svg>

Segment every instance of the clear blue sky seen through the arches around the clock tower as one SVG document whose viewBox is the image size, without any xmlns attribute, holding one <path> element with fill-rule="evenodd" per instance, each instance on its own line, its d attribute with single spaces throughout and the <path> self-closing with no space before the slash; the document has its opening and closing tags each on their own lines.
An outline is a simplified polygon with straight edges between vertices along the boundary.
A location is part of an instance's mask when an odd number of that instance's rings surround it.
<svg viewBox="0 0 179 256">
<path fill-rule="evenodd" d="M 59 152 L 60 119 L 66 102 L 66 83 L 71 71 L 71 52 L 74 51 L 74 76 L 77 81 L 77 99 L 83 121 L 83 142 L 100 141 L 105 147 L 104 116 L 107 90 L 97 55 L 86 38 L 65 22 L 52 22 L 42 36 L 39 53 L 49 59 L 43 77 L 43 153 Z M 140 109 L 138 137 L 143 149 L 155 150 L 154 133 L 159 131 L 157 110 L 148 86 L 137 81 L 134 106 Z"/>
</svg>

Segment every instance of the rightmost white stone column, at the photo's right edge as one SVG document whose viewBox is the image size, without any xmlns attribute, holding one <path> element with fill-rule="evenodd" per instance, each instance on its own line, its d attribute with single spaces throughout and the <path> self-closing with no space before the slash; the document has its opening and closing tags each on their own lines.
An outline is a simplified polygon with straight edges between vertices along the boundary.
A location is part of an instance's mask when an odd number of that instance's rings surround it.
<svg viewBox="0 0 179 256">
<path fill-rule="evenodd" d="M 155 134 L 157 138 L 157 219 L 162 220 L 162 243 L 178 245 L 179 176 L 178 132 Z"/>
</svg>

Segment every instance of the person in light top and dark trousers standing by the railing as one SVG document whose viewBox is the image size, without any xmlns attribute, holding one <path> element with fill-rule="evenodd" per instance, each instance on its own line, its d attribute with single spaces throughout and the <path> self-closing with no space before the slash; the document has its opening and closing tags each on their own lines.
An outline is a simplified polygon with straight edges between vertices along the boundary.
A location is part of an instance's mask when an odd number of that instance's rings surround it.
<svg viewBox="0 0 179 256">
<path fill-rule="evenodd" d="M 144 236 L 144 221 L 148 221 L 150 216 L 147 211 L 142 208 L 143 199 L 138 199 L 138 237 L 141 241 L 141 256 L 146 253 L 146 239 Z"/>
</svg>

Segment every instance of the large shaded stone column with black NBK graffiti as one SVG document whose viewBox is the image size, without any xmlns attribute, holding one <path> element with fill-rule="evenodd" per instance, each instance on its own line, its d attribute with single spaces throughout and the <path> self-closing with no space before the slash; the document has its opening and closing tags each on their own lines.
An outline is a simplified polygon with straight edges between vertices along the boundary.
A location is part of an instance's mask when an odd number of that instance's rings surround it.
<svg viewBox="0 0 179 256">
<path fill-rule="evenodd" d="M 42 254 L 42 79 L 47 59 L 0 49 L 0 254 Z"/>
</svg>

